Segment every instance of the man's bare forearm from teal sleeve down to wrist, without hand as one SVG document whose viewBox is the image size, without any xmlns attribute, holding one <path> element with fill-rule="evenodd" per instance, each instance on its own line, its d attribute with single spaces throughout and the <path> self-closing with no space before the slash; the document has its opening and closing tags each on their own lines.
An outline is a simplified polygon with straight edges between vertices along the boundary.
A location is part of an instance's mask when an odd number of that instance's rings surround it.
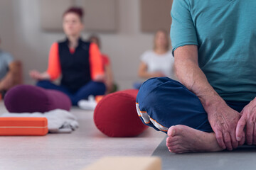
<svg viewBox="0 0 256 170">
<path fill-rule="evenodd" d="M 190 50 L 178 50 L 175 54 L 176 74 L 181 83 L 198 96 L 206 112 L 217 104 L 225 103 L 208 83 L 196 57 L 186 57 L 188 55 L 197 55 L 197 52 L 193 54 Z"/>
</svg>

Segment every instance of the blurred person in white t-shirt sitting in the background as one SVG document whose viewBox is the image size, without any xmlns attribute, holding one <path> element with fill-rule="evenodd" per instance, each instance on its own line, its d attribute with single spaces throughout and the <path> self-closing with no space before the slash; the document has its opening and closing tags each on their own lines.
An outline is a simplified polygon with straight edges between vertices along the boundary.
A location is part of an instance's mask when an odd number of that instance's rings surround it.
<svg viewBox="0 0 256 170">
<path fill-rule="evenodd" d="M 174 56 L 169 50 L 170 41 L 166 30 L 158 30 L 154 35 L 154 48 L 144 52 L 140 58 L 138 75 L 142 79 L 169 77 L 175 79 Z"/>
</svg>

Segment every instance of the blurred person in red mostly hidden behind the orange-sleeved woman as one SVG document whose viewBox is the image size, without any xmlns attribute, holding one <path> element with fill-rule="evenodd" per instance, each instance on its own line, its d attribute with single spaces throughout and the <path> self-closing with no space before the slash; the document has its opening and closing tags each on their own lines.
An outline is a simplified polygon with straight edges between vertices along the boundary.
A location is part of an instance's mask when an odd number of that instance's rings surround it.
<svg viewBox="0 0 256 170">
<path fill-rule="evenodd" d="M 99 36 L 92 34 L 89 38 L 90 42 L 94 42 L 101 49 L 101 41 Z M 105 85 L 107 87 L 106 94 L 117 91 L 117 84 L 114 83 L 113 72 L 110 57 L 102 53 L 103 68 L 105 70 Z"/>
</svg>

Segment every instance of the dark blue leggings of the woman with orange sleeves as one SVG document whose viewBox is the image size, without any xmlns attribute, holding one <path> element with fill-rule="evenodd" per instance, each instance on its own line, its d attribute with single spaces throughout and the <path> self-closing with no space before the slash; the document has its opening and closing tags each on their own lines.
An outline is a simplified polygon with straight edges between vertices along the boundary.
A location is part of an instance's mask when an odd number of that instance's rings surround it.
<svg viewBox="0 0 256 170">
<path fill-rule="evenodd" d="M 106 91 L 105 84 L 101 82 L 95 82 L 95 81 L 90 81 L 89 83 L 85 84 L 82 86 L 78 91 L 76 91 L 74 94 L 70 93 L 68 88 L 62 85 L 56 85 L 53 84 L 51 81 L 38 81 L 36 86 L 40 86 L 44 89 L 53 89 L 53 90 L 58 90 L 62 91 L 64 94 L 67 94 L 72 101 L 73 106 L 78 105 L 78 101 L 82 99 L 87 99 L 88 96 L 97 96 L 97 95 L 104 95 Z"/>
</svg>

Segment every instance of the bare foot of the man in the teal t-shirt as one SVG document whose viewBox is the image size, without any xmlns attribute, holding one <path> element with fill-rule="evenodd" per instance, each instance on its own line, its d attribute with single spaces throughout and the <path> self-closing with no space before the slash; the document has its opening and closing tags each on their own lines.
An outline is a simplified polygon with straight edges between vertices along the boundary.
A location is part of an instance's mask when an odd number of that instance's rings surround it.
<svg viewBox="0 0 256 170">
<path fill-rule="evenodd" d="M 186 125 L 172 126 L 168 130 L 166 146 L 170 152 L 218 152 L 221 149 L 214 133 L 202 132 Z"/>
</svg>

